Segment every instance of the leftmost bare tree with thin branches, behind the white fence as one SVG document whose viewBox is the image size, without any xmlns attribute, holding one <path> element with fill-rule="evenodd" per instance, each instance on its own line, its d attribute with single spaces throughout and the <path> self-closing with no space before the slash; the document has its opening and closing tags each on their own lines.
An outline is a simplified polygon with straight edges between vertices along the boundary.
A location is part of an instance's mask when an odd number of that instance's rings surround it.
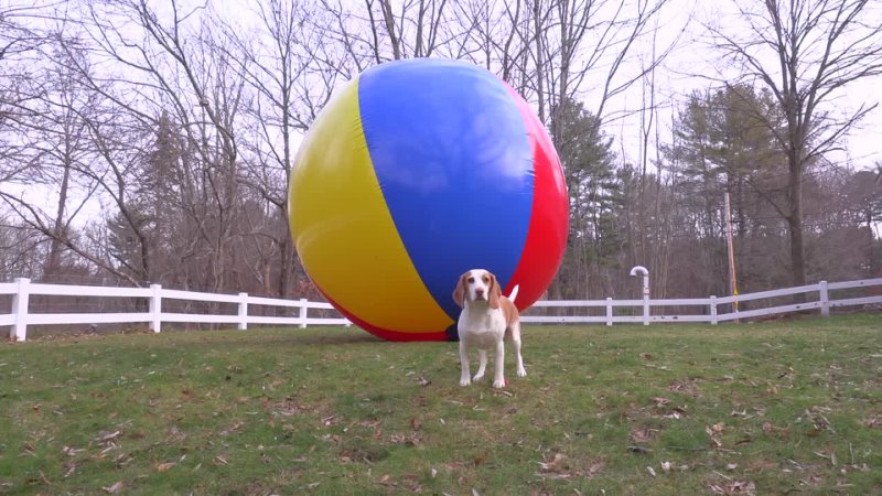
<svg viewBox="0 0 882 496">
<path fill-rule="evenodd" d="M 94 157 L 83 116 L 96 111 L 97 103 L 79 84 L 74 69 L 85 65 L 82 51 L 68 52 L 58 43 L 58 26 L 64 21 L 52 24 L 46 17 L 41 22 L 41 43 L 24 57 L 40 62 L 31 63 L 26 76 L 20 78 L 19 98 L 14 111 L 7 116 L 9 126 L 4 129 L 6 136 L 14 133 L 12 141 L 19 150 L 7 154 L 2 166 L 8 171 L 7 180 L 20 188 L 0 191 L 0 198 L 19 216 L 20 226 L 26 226 L 33 237 L 49 245 L 46 260 L 37 273 L 57 279 L 64 272 L 64 251 L 90 259 L 77 246 L 73 223 L 78 216 L 82 220 L 79 213 L 95 192 L 95 182 L 82 173 Z M 47 201 L 24 195 L 25 188 L 45 192 Z"/>
</svg>

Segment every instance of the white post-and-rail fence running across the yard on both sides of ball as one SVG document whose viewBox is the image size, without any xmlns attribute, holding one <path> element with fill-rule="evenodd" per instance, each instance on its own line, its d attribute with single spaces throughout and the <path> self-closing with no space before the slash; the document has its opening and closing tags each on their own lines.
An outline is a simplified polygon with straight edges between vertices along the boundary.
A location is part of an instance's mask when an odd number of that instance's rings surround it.
<svg viewBox="0 0 882 496">
<path fill-rule="evenodd" d="M 873 291 L 870 289 L 873 287 L 880 288 Z M 854 292 L 854 289 L 861 288 L 864 290 L 859 292 L 863 293 L 863 295 L 856 296 L 852 294 L 849 298 L 830 298 L 831 292 L 841 292 L 843 290 L 852 290 L 852 292 Z M 163 289 L 159 284 L 153 284 L 150 288 L 107 288 L 94 285 L 43 284 L 33 283 L 30 279 L 15 279 L 14 282 L 0 283 L 0 296 L 10 294 L 12 295 L 12 304 L 9 313 L 0 313 L 0 327 L 10 326 L 9 336 L 11 339 L 15 341 L 25 341 L 29 325 L 148 323 L 149 328 L 157 333 L 160 332 L 163 322 L 236 324 L 240 330 L 248 328 L 248 324 L 298 325 L 300 327 L 305 327 L 306 325 L 351 325 L 348 320 L 342 317 L 309 316 L 309 311 L 311 309 L 331 310 L 331 304 L 326 302 L 306 301 L 305 299 L 278 300 L 249 296 L 247 293 L 200 293 Z M 723 305 L 727 309 L 734 308 L 734 302 L 756 302 L 795 294 L 807 294 L 807 296 L 804 296 L 803 303 L 779 304 L 741 312 L 719 312 L 719 309 Z M 147 299 L 148 311 L 129 313 L 34 313 L 31 312 L 30 309 L 31 295 Z M 163 312 L 162 302 L 164 300 L 232 303 L 237 306 L 238 311 L 235 314 Z M 251 315 L 248 312 L 249 305 L 295 309 L 297 315 L 294 316 L 294 311 L 291 311 L 291 316 Z M 861 305 L 882 305 L 882 278 L 830 283 L 821 281 L 817 284 L 802 285 L 798 288 L 761 291 L 724 298 L 710 296 L 679 300 L 653 300 L 645 296 L 642 300 L 613 300 L 607 298 L 606 300 L 585 301 L 539 301 L 533 306 L 536 309 L 605 309 L 605 314 L 560 316 L 536 315 L 535 313 L 537 312 L 527 312 L 521 316 L 521 320 L 525 323 L 538 324 L 605 323 L 606 325 L 613 325 L 613 323 L 643 323 L 644 325 L 648 325 L 650 322 L 707 322 L 717 324 L 725 321 L 749 320 L 805 310 L 819 310 L 821 315 L 829 315 L 830 309 L 833 308 Z M 681 315 L 654 315 L 652 312 L 652 308 L 654 306 L 696 308 L 697 310 L 696 312 Z M 623 315 L 622 313 L 625 312 L 620 311 L 620 314 L 616 314 L 616 308 L 636 309 L 636 312 L 632 311 L 632 313 L 635 314 Z M 3 309 L 0 309 L 0 312 L 3 312 Z"/>
</svg>

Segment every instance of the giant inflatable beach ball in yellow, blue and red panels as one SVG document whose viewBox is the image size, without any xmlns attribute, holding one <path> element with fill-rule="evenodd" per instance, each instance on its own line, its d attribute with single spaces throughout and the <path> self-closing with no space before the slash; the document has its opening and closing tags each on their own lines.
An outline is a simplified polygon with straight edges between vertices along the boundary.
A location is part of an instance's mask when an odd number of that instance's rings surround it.
<svg viewBox="0 0 882 496">
<path fill-rule="evenodd" d="M 495 273 L 526 309 L 563 257 L 568 195 L 527 103 L 478 66 L 416 58 L 343 87 L 290 174 L 291 236 L 353 323 L 391 341 L 455 339 L 459 277 Z"/>
</svg>

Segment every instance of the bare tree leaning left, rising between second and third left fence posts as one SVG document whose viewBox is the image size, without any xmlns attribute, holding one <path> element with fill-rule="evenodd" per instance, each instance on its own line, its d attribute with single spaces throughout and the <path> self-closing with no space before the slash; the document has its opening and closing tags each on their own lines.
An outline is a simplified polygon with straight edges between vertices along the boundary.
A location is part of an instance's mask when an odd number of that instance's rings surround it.
<svg viewBox="0 0 882 496">
<path fill-rule="evenodd" d="M 200 241 L 179 254 L 191 266 L 196 285 L 225 288 L 225 263 L 239 215 L 239 150 L 235 132 L 243 107 L 244 82 L 226 64 L 226 52 L 213 41 L 214 25 L 202 8 L 171 0 L 163 10 L 140 0 L 107 0 L 86 6 L 83 24 L 93 54 L 118 67 L 90 79 L 94 90 L 153 130 L 168 111 L 183 134 L 187 157 L 176 192 L 189 225 L 181 235 Z M 101 80 L 125 86 L 103 89 Z"/>
</svg>

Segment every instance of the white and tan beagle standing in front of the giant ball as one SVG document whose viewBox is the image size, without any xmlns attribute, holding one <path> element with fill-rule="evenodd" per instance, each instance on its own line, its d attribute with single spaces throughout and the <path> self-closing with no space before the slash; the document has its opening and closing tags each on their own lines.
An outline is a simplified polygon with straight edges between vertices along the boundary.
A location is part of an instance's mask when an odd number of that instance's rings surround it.
<svg viewBox="0 0 882 496">
<path fill-rule="evenodd" d="M 520 316 L 515 308 L 518 287 L 512 290 L 508 298 L 502 295 L 496 276 L 483 269 L 473 269 L 460 277 L 453 291 L 453 300 L 462 306 L 456 330 L 460 333 L 460 365 L 462 375 L 460 386 L 469 386 L 472 380 L 484 378 L 487 367 L 487 349 L 496 355 L 496 369 L 493 387 L 505 387 L 504 377 L 504 338 L 509 338 L 515 346 L 517 375 L 524 377 L 524 359 L 520 357 Z M 469 348 L 476 347 L 481 357 L 477 374 L 471 378 L 469 370 Z"/>
</svg>

